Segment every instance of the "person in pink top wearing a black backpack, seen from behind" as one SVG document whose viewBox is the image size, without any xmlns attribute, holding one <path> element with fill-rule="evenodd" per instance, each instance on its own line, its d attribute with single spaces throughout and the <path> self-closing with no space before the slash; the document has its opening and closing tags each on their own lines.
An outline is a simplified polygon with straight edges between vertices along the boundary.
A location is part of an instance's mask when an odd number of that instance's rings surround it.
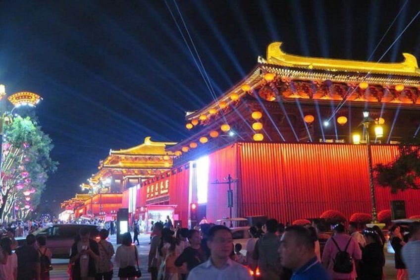
<svg viewBox="0 0 420 280">
<path fill-rule="evenodd" d="M 334 235 L 325 243 L 322 264 L 332 279 L 356 279 L 356 263 L 362 259 L 357 241 L 345 232 L 343 224 L 334 226 Z"/>
</svg>

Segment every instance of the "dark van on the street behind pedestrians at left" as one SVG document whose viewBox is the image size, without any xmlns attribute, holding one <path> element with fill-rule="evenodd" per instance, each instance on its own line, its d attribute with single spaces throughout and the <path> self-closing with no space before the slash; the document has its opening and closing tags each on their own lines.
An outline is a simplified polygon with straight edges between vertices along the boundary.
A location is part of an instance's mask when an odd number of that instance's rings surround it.
<svg viewBox="0 0 420 280">
<path fill-rule="evenodd" d="M 91 232 L 97 229 L 92 224 L 54 224 L 49 227 L 40 228 L 33 232 L 35 236 L 45 235 L 47 237 L 47 248 L 52 252 L 52 258 L 67 259 L 70 256 L 70 248 L 74 243 L 74 237 L 79 233 L 80 229 L 88 227 Z M 95 239 L 99 241 L 99 236 Z M 24 237 L 16 238 L 19 246 L 25 244 Z"/>
</svg>

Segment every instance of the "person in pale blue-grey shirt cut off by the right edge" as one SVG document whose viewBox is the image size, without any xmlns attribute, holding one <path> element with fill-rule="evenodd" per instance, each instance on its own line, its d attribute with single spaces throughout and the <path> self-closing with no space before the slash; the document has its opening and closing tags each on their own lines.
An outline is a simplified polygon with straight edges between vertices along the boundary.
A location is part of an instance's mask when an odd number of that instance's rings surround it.
<svg viewBox="0 0 420 280">
<path fill-rule="evenodd" d="M 410 280 L 420 280 L 420 222 L 410 226 L 410 241 L 401 249 L 401 257 L 408 270 Z"/>
</svg>

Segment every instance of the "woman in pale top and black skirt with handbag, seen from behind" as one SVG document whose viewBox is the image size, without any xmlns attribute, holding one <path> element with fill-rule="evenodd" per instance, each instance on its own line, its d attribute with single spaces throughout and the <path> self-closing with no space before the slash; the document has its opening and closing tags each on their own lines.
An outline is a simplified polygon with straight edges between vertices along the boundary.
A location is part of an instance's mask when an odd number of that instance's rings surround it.
<svg viewBox="0 0 420 280">
<path fill-rule="evenodd" d="M 119 267 L 118 277 L 120 280 L 134 280 L 141 276 L 137 248 L 132 243 L 130 232 L 124 233 L 122 235 L 122 244 L 115 253 L 115 265 Z"/>
</svg>

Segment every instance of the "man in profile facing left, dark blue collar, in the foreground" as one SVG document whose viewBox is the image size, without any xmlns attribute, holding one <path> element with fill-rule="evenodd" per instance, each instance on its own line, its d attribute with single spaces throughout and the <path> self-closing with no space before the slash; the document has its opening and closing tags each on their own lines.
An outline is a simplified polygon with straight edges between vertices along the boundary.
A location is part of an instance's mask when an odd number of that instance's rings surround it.
<svg viewBox="0 0 420 280">
<path fill-rule="evenodd" d="M 293 270 L 292 280 L 331 280 L 315 255 L 315 240 L 300 225 L 286 227 L 281 237 L 281 265 Z"/>
</svg>

